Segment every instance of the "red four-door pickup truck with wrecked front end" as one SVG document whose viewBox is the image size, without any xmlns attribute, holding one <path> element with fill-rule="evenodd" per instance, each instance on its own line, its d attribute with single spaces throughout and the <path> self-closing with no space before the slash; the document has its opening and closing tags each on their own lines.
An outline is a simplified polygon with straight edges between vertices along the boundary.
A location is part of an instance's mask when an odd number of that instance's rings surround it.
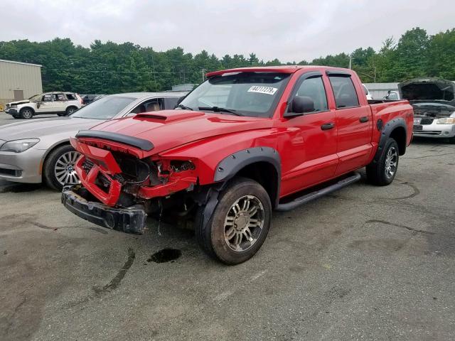
<svg viewBox="0 0 455 341">
<path fill-rule="evenodd" d="M 79 131 L 76 215 L 144 232 L 147 215 L 193 217 L 226 264 L 250 259 L 285 211 L 360 179 L 388 185 L 412 139 L 407 101 L 368 101 L 352 70 L 247 67 L 210 72 L 174 110 Z"/>
</svg>

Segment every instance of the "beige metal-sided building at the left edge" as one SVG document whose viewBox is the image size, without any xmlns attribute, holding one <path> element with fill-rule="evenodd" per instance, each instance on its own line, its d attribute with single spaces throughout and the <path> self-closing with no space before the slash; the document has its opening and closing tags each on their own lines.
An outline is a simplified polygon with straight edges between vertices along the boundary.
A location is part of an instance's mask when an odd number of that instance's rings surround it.
<svg viewBox="0 0 455 341">
<path fill-rule="evenodd" d="M 0 106 L 42 92 L 41 65 L 0 59 Z"/>
</svg>

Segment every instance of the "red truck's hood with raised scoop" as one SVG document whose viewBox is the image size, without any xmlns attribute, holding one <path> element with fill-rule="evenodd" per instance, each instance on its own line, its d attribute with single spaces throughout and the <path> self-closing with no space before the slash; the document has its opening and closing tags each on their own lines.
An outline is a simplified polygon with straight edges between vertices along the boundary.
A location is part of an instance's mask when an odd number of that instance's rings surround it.
<svg viewBox="0 0 455 341">
<path fill-rule="evenodd" d="M 144 156 L 150 156 L 211 136 L 267 129 L 272 124 L 272 119 L 269 118 L 163 110 L 106 121 L 90 130 L 109 131 L 150 141 L 154 148 L 144 153 Z"/>
</svg>

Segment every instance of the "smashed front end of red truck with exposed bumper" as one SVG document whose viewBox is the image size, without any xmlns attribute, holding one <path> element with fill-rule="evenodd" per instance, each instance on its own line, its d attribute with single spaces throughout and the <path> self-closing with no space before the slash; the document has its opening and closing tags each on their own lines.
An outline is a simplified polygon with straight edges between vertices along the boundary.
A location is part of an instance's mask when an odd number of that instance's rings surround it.
<svg viewBox="0 0 455 341">
<path fill-rule="evenodd" d="M 82 154 L 75 165 L 81 184 L 63 188 L 63 205 L 109 229 L 142 234 L 147 215 L 162 212 L 165 201 L 186 207 L 185 193 L 198 185 L 197 161 L 154 155 L 144 139 L 80 131 L 71 144 Z"/>
</svg>

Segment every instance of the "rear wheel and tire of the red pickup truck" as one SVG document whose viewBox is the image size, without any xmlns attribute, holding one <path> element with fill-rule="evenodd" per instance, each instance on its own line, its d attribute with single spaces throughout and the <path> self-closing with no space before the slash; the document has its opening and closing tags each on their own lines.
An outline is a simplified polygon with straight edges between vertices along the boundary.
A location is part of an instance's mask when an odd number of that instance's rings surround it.
<svg viewBox="0 0 455 341">
<path fill-rule="evenodd" d="M 378 186 L 390 185 L 397 174 L 399 154 L 397 141 L 390 137 L 378 162 L 373 161 L 366 167 L 368 182 Z"/>
</svg>

